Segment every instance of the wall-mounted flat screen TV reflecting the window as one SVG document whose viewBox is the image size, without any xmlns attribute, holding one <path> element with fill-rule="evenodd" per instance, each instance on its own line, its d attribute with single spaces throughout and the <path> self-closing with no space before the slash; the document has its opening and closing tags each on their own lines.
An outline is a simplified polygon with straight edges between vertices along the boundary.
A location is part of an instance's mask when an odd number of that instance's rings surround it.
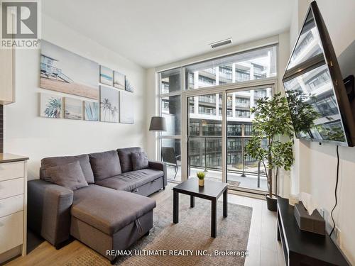
<svg viewBox="0 0 355 266">
<path fill-rule="evenodd" d="M 297 138 L 355 145 L 355 123 L 337 57 L 317 3 L 307 12 L 283 85 Z"/>
</svg>

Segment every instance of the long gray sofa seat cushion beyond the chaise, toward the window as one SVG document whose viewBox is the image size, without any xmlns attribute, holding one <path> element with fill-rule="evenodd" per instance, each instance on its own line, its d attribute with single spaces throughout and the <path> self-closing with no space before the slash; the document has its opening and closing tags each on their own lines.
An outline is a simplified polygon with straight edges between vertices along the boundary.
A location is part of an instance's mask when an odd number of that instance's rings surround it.
<svg viewBox="0 0 355 266">
<path fill-rule="evenodd" d="M 164 172 L 154 169 L 143 169 L 138 171 L 126 172 L 119 174 L 116 177 L 110 177 L 96 182 L 103 187 L 109 187 L 116 190 L 126 190 L 131 192 L 137 187 L 141 187 L 143 184 L 151 182 L 159 177 L 163 177 Z"/>
</svg>

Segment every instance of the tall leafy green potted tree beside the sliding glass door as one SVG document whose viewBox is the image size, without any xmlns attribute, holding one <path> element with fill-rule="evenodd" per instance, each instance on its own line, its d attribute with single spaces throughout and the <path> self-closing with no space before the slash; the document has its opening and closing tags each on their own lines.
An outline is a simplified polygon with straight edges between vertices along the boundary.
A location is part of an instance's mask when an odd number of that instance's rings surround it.
<svg viewBox="0 0 355 266">
<path fill-rule="evenodd" d="M 277 198 L 273 194 L 273 170 L 277 179 L 280 168 L 288 171 L 293 165 L 293 123 L 287 99 L 280 93 L 275 94 L 271 99 L 264 97 L 251 108 L 251 113 L 254 114 L 253 136 L 246 144 L 246 155 L 263 164 L 268 181 L 266 195 L 268 209 L 276 211 Z M 283 136 L 288 137 L 287 140 L 281 140 Z"/>
</svg>

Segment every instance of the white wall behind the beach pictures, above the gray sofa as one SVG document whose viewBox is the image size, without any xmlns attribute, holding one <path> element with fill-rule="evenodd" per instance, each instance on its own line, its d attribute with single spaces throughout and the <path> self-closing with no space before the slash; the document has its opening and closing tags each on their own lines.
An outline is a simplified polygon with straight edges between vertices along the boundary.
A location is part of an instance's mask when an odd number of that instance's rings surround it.
<svg viewBox="0 0 355 266">
<path fill-rule="evenodd" d="M 93 153 L 132 145 L 146 148 L 146 70 L 48 16 L 43 15 L 42 24 L 43 39 L 127 74 L 135 88 L 135 123 L 39 117 L 38 93 L 60 93 L 39 88 L 40 50 L 17 50 L 16 103 L 5 107 L 5 152 L 30 157 L 28 176 L 33 179 L 38 178 L 43 157 Z"/>
</svg>

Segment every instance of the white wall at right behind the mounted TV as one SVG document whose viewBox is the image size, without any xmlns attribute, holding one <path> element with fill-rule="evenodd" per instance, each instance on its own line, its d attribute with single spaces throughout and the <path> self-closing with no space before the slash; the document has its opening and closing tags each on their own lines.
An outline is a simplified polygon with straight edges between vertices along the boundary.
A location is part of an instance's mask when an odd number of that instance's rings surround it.
<svg viewBox="0 0 355 266">
<path fill-rule="evenodd" d="M 298 17 L 304 18 L 310 1 L 299 1 Z M 334 50 L 342 65 L 344 54 L 348 62 L 355 62 L 355 1 L 354 0 L 317 0 L 324 22 L 327 25 Z M 302 23 L 302 21 L 301 21 Z M 299 30 L 299 29 L 297 29 Z M 290 29 L 290 35 L 297 35 L 295 28 Z M 291 40 L 293 47 L 295 40 Z M 351 45 L 352 44 L 352 45 Z M 349 47 L 351 45 L 351 47 Z M 351 57 L 349 59 L 349 57 Z M 348 68 L 349 70 L 349 68 Z M 343 71 L 343 76 L 346 76 Z M 355 74 L 353 72 L 352 74 Z M 319 145 L 300 141 L 297 148 L 299 191 L 309 192 L 315 197 L 320 208 L 326 211 L 326 218 L 332 226 L 330 211 L 334 206 L 334 189 L 336 182 L 337 157 L 335 145 Z M 355 148 L 339 147 L 339 205 L 334 211 L 334 218 L 341 230 L 341 241 L 338 243 L 346 257 L 355 264 Z M 319 209 L 320 209 L 319 208 Z M 329 224 L 328 224 L 329 226 Z"/>
</svg>

